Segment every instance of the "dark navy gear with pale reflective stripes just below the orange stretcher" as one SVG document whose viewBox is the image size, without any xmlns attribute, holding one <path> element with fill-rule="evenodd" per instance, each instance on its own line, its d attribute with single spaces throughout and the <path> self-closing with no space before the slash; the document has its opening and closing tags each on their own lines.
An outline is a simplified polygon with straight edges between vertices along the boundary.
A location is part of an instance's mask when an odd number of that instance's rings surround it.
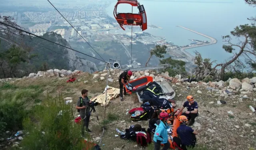
<svg viewBox="0 0 256 150">
<path fill-rule="evenodd" d="M 148 82 L 144 88 L 143 94 L 140 96 L 140 99 L 143 100 L 156 100 L 162 94 L 162 89 L 159 84 L 154 82 Z"/>
</svg>

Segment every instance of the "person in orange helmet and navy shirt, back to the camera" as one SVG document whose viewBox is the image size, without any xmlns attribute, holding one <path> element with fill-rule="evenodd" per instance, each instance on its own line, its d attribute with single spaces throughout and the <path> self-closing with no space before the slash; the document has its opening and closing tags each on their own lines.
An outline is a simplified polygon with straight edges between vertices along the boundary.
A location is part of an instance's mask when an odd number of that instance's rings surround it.
<svg viewBox="0 0 256 150">
<path fill-rule="evenodd" d="M 190 126 L 186 126 L 188 124 L 188 118 L 186 116 L 180 116 L 179 122 L 180 126 L 177 128 L 178 137 L 173 137 L 174 144 L 183 150 L 187 150 L 188 147 L 194 148 L 198 132 Z"/>
</svg>

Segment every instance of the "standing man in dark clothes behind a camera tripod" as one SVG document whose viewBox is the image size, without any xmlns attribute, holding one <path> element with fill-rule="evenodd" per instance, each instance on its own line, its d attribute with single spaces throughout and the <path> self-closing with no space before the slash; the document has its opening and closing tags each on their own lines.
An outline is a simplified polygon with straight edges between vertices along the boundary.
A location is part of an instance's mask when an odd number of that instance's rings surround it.
<svg viewBox="0 0 256 150">
<path fill-rule="evenodd" d="M 81 127 L 81 136 L 84 136 L 84 127 L 86 126 L 86 132 L 92 133 L 92 131 L 88 128 L 90 122 L 90 107 L 89 105 L 92 103 L 88 98 L 88 90 L 83 89 L 81 91 L 82 96 L 77 100 L 76 109 L 78 109 L 80 117 L 82 119 L 82 127 Z"/>
</svg>

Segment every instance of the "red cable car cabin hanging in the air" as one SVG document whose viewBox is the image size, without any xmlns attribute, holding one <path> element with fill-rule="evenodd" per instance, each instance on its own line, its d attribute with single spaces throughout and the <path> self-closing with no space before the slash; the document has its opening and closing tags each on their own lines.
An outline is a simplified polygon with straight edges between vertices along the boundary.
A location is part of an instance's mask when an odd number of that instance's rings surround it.
<svg viewBox="0 0 256 150">
<path fill-rule="evenodd" d="M 132 13 L 118 13 L 116 12 L 116 8 L 118 4 L 130 4 L 132 6 L 138 6 L 139 14 Z M 114 9 L 114 17 L 116 21 L 119 23 L 120 27 L 124 29 L 123 25 L 133 25 L 140 26 L 142 31 L 146 30 L 147 27 L 147 16 L 143 5 L 137 0 L 118 0 Z"/>
</svg>

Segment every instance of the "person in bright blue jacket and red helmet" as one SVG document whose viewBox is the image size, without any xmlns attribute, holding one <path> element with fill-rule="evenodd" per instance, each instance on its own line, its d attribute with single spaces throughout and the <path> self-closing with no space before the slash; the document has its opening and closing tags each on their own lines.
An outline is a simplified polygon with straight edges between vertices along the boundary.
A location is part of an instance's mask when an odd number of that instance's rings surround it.
<svg viewBox="0 0 256 150">
<path fill-rule="evenodd" d="M 154 134 L 154 150 L 160 150 L 161 144 L 164 144 L 162 150 L 168 150 L 170 147 L 170 142 L 168 140 L 167 129 L 169 128 L 167 124 L 167 120 L 169 118 L 169 114 L 167 112 L 161 112 L 159 115 L 159 119 L 156 125 L 156 131 Z"/>
</svg>

